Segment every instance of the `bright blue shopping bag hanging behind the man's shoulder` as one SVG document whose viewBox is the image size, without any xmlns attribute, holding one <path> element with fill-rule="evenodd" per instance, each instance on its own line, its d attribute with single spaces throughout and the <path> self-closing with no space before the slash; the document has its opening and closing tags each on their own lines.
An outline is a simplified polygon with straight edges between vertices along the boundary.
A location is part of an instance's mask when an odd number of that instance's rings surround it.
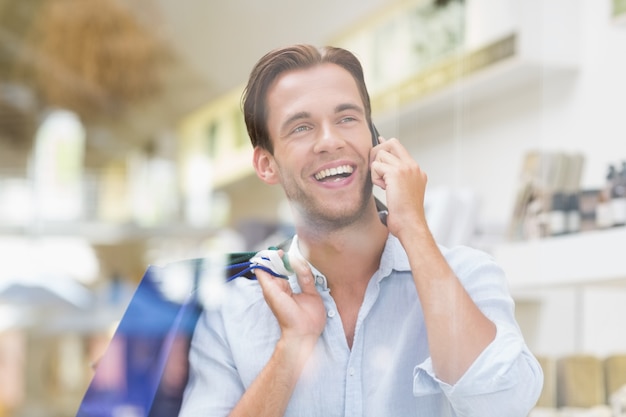
<svg viewBox="0 0 626 417">
<path fill-rule="evenodd" d="M 213 259 L 213 258 L 211 258 Z M 97 360 L 77 417 L 173 416 L 187 382 L 187 354 L 200 310 L 206 260 L 150 267 Z M 217 267 L 223 279 L 223 268 Z"/>
</svg>

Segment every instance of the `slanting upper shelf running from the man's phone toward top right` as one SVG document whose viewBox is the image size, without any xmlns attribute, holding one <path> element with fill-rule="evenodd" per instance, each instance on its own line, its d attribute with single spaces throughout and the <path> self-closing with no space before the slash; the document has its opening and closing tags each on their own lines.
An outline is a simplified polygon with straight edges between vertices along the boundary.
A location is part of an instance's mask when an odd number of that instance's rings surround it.
<svg viewBox="0 0 626 417">
<path fill-rule="evenodd" d="M 579 7 L 565 0 L 549 5 L 520 1 L 518 25 L 508 35 L 484 42 L 425 69 L 414 77 L 372 97 L 379 130 L 396 134 L 459 106 L 471 108 L 501 99 L 550 77 L 575 74 L 579 67 Z M 558 22 L 542 26 L 538 19 Z"/>
</svg>

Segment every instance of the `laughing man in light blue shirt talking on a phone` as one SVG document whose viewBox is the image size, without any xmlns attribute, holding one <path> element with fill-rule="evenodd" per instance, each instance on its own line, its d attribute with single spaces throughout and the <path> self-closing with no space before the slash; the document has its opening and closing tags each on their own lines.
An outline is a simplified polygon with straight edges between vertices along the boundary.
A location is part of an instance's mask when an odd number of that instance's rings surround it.
<svg viewBox="0 0 626 417">
<path fill-rule="evenodd" d="M 196 327 L 181 415 L 527 416 L 542 373 L 504 274 L 435 242 L 426 174 L 376 137 L 358 60 L 274 50 L 251 73 L 244 116 L 258 177 L 292 207 L 295 274 L 228 283 Z"/>
</svg>

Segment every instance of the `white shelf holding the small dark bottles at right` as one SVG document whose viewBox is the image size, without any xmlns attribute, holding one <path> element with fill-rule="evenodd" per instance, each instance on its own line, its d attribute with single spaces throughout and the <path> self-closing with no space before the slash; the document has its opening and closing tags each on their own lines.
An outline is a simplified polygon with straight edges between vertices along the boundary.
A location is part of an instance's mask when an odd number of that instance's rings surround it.
<svg viewBox="0 0 626 417">
<path fill-rule="evenodd" d="M 500 245 L 511 291 L 571 285 L 626 285 L 626 227 Z"/>
</svg>

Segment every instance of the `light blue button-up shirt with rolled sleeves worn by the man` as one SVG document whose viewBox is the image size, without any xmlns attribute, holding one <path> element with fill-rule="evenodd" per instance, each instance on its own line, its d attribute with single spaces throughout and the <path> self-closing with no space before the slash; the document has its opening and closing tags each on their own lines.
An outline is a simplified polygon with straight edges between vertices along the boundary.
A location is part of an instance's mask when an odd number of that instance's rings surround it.
<svg viewBox="0 0 626 417">
<path fill-rule="evenodd" d="M 297 250 L 297 239 L 292 249 Z M 290 251 L 291 251 L 290 250 Z M 290 399 L 299 417 L 526 417 L 543 375 L 514 318 L 503 271 L 487 254 L 441 248 L 497 334 L 454 385 L 433 371 L 406 253 L 390 236 L 359 311 L 352 349 L 326 278 L 313 268 L 326 328 Z M 349 274 L 350 271 L 346 271 Z M 290 277 L 294 291 L 299 287 Z M 263 369 L 280 337 L 258 282 L 237 278 L 224 303 L 198 321 L 181 416 L 226 416 Z M 271 395 L 271 394 L 270 394 Z"/>
</svg>

